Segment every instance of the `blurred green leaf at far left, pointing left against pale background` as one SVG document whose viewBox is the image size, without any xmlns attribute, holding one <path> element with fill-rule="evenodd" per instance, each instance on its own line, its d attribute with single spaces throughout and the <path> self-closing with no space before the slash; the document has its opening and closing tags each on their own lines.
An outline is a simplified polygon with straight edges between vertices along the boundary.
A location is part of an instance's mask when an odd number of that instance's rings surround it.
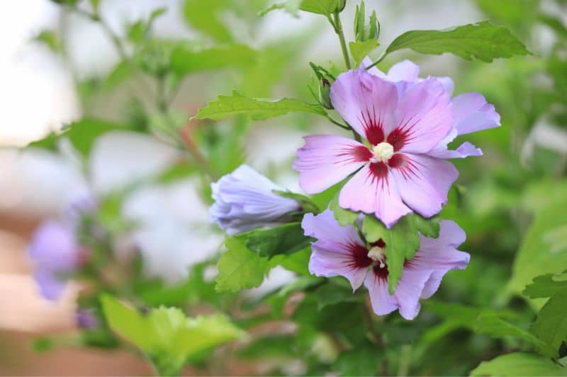
<svg viewBox="0 0 567 377">
<path fill-rule="evenodd" d="M 51 132 L 47 137 L 31 142 L 26 148 L 55 150 L 57 149 L 57 143 L 61 139 L 67 138 L 82 156 L 88 156 L 97 137 L 106 132 L 117 130 L 128 131 L 129 129 L 105 120 L 84 118 L 63 127 L 61 132 Z"/>
</svg>

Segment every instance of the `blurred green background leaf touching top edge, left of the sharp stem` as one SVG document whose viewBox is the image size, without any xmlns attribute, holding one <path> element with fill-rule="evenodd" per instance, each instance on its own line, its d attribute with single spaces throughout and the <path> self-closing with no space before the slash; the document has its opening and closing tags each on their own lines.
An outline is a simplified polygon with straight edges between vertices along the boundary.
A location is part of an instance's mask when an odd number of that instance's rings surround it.
<svg viewBox="0 0 567 377">
<path fill-rule="evenodd" d="M 186 0 L 183 15 L 190 27 L 210 35 L 219 42 L 230 42 L 230 30 L 219 17 L 219 13 L 230 4 L 231 2 L 226 0 Z"/>
</svg>

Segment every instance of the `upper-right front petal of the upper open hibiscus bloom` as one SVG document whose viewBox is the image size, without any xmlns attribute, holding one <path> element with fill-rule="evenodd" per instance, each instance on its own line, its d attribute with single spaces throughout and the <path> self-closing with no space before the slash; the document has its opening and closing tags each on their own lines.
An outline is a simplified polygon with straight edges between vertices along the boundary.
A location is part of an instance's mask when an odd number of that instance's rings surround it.
<svg viewBox="0 0 567 377">
<path fill-rule="evenodd" d="M 395 127 L 385 127 L 394 151 L 426 153 L 451 131 L 451 101 L 442 83 L 427 79 L 405 90 L 395 111 Z"/>
</svg>

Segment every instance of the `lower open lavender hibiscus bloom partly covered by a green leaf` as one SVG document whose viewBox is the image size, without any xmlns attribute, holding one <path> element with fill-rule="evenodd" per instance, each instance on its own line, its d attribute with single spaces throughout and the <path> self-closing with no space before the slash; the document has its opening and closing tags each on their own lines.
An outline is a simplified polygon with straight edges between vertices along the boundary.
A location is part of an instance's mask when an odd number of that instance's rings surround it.
<svg viewBox="0 0 567 377">
<path fill-rule="evenodd" d="M 406 260 L 394 294 L 388 292 L 388 260 L 383 240 L 367 248 L 354 226 L 339 226 L 332 211 L 305 214 L 301 224 L 312 243 L 309 272 L 322 277 L 344 276 L 352 289 L 362 284 L 369 290 L 374 313 L 385 315 L 398 309 L 412 320 L 420 312 L 420 299 L 430 298 L 450 269 L 464 269 L 470 255 L 456 250 L 465 240 L 464 231 L 453 221 L 441 221 L 439 238 L 420 234 L 420 250 Z"/>
</svg>

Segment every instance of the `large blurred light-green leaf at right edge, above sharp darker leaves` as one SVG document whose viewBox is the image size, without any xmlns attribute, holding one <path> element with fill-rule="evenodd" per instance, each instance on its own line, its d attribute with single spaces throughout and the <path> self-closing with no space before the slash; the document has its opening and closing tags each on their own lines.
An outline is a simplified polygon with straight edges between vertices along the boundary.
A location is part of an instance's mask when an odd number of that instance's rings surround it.
<svg viewBox="0 0 567 377">
<path fill-rule="evenodd" d="M 541 207 L 529 227 L 512 265 L 512 278 L 507 289 L 521 294 L 535 277 L 541 274 L 559 274 L 567 266 L 567 202 L 563 199 Z M 544 300 L 532 300 L 541 307 Z"/>
</svg>

